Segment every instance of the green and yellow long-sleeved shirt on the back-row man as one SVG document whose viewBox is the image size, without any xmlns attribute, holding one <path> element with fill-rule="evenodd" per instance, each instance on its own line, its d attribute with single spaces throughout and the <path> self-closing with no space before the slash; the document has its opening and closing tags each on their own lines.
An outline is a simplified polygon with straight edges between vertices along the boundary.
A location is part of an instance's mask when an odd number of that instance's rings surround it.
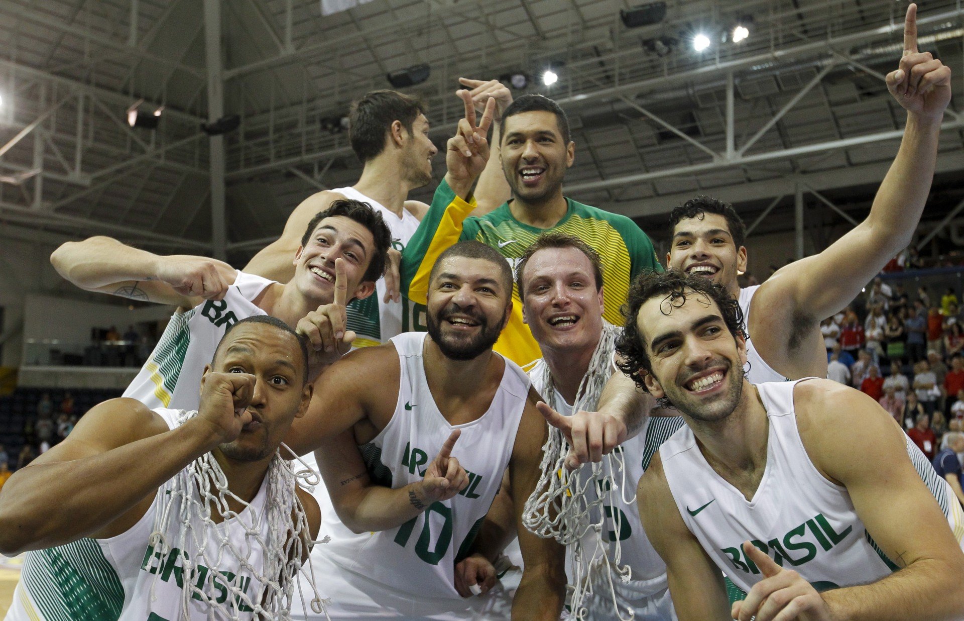
<svg viewBox="0 0 964 621">
<path fill-rule="evenodd" d="M 622 325 L 619 309 L 626 302 L 632 279 L 643 270 L 662 271 L 653 242 L 626 216 L 572 199 L 566 199 L 566 202 L 568 208 L 562 220 L 551 229 L 536 229 L 516 220 L 508 202 L 481 218 L 469 217 L 475 208 L 474 200 L 462 200 L 442 180 L 431 208 L 402 255 L 402 291 L 412 302 L 412 308 L 406 313 L 405 329 L 425 330 L 423 314 L 429 273 L 446 248 L 459 241 L 474 239 L 495 248 L 515 271 L 525 249 L 539 235 L 550 230 L 574 235 L 600 254 L 605 284 L 603 317 L 610 323 Z M 522 303 L 516 285 L 513 285 L 512 299 L 512 314 L 495 343 L 495 351 L 518 365 L 527 365 L 541 358 L 542 353 L 528 326 L 522 323 Z M 419 317 L 421 321 L 417 320 Z"/>
</svg>

